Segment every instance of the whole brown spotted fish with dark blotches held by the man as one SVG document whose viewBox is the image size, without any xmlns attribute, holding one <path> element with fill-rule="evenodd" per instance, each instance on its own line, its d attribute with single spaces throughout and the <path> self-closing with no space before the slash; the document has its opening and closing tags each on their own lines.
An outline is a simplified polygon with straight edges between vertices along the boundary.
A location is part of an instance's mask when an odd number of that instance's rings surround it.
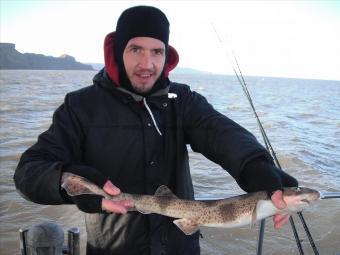
<svg viewBox="0 0 340 255">
<path fill-rule="evenodd" d="M 291 214 L 303 210 L 320 197 L 320 193 L 313 189 L 284 188 L 287 207 L 280 210 L 268 199 L 265 191 L 197 201 L 180 199 L 168 187 L 160 186 L 154 196 L 120 193 L 112 197 L 85 178 L 71 173 L 63 174 L 62 187 L 70 196 L 96 194 L 113 201 L 131 200 L 134 204 L 131 211 L 175 218 L 174 224 L 187 235 L 195 233 L 200 226 L 233 228 L 254 224 L 277 213 Z"/>
</svg>

